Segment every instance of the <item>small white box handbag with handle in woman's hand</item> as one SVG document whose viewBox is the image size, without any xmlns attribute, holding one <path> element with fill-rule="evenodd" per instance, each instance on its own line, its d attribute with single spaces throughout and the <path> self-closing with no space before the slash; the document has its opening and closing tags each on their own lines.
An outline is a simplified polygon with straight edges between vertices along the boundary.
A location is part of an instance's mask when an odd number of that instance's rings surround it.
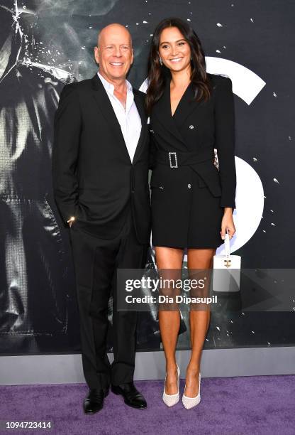
<svg viewBox="0 0 295 435">
<path fill-rule="evenodd" d="M 225 255 L 213 256 L 213 291 L 240 291 L 240 255 L 230 255 L 230 236 L 226 231 Z"/>
</svg>

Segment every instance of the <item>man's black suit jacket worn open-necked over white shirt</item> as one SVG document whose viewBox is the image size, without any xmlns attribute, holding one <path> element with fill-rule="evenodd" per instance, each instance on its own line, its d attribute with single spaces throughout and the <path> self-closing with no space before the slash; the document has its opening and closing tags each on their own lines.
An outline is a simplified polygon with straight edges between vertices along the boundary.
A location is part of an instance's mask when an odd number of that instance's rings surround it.
<svg viewBox="0 0 295 435">
<path fill-rule="evenodd" d="M 149 131 L 143 92 L 133 90 L 142 129 L 133 162 L 106 90 L 96 74 L 66 85 L 55 114 L 53 188 L 66 222 L 104 239 L 116 237 L 132 210 L 138 241 L 150 239 Z"/>
</svg>

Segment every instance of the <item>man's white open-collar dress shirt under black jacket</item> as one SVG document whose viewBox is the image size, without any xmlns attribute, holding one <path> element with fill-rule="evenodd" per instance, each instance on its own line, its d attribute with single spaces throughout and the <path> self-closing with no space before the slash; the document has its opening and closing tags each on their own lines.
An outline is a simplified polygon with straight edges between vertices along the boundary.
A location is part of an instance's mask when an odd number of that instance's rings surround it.
<svg viewBox="0 0 295 435">
<path fill-rule="evenodd" d="M 118 100 L 118 98 L 113 94 L 114 86 L 109 83 L 101 74 L 97 73 L 104 89 L 108 94 L 108 98 L 113 107 L 113 111 L 116 114 L 118 123 L 120 124 L 123 138 L 130 156 L 130 161 L 133 161 L 136 146 L 138 146 L 138 140 L 140 138 L 141 131 L 141 119 L 138 109 L 134 102 L 134 95 L 132 91 L 132 86 L 126 80 L 127 86 L 127 99 L 126 99 L 126 110 L 123 104 Z"/>
</svg>

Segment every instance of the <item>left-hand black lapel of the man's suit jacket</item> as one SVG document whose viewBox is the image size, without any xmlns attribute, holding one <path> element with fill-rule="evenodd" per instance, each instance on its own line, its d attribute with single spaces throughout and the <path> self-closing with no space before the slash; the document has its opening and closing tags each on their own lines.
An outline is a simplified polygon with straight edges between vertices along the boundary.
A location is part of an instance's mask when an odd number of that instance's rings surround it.
<svg viewBox="0 0 295 435">
<path fill-rule="evenodd" d="M 96 101 L 101 114 L 105 117 L 106 122 L 108 122 L 111 130 L 116 135 L 118 144 L 121 146 L 123 153 L 130 160 L 121 126 L 118 122 L 115 112 L 113 111 L 113 106 L 111 105 L 106 90 L 104 89 L 104 85 L 101 83 L 101 80 L 97 74 L 92 78 L 92 88 L 94 90 L 94 100 Z"/>
</svg>

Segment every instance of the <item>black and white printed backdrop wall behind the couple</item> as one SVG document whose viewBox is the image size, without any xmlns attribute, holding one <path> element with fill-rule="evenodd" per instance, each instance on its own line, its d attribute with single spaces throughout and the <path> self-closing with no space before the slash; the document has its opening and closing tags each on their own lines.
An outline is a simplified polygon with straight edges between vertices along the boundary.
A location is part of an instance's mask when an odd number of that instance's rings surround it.
<svg viewBox="0 0 295 435">
<path fill-rule="evenodd" d="M 153 30 L 167 16 L 188 21 L 208 71 L 233 80 L 233 251 L 245 268 L 294 268 L 294 1 L 0 0 L 1 354 L 79 351 L 69 233 L 52 198 L 55 109 L 65 83 L 96 73 L 96 35 L 108 23 L 133 36 L 128 80 L 141 87 Z M 205 346 L 294 345 L 294 310 L 213 313 Z M 180 348 L 189 345 L 185 319 Z M 157 319 L 143 313 L 138 349 L 157 348 Z"/>
</svg>

